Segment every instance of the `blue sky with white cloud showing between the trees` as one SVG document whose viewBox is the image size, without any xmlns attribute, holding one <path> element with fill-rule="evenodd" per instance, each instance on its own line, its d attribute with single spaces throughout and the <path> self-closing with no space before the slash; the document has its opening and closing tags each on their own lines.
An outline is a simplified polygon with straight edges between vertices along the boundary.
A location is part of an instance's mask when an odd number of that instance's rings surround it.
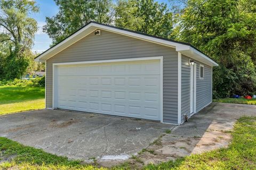
<svg viewBox="0 0 256 170">
<path fill-rule="evenodd" d="M 168 0 L 158 0 L 158 2 L 167 3 Z M 49 48 L 52 43 L 52 39 L 43 32 L 42 27 L 46 24 L 45 17 L 52 17 L 58 13 L 59 8 L 53 0 L 36 0 L 37 6 L 39 6 L 39 12 L 31 14 L 30 17 L 34 18 L 38 23 L 38 31 L 35 35 L 34 46 L 32 50 L 37 53 L 42 53 Z"/>
</svg>

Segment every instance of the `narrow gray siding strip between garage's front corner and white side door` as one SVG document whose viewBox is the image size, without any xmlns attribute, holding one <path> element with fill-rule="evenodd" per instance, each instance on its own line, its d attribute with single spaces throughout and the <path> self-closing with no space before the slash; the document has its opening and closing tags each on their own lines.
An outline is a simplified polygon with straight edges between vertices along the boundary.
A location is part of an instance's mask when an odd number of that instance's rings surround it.
<svg viewBox="0 0 256 170">
<path fill-rule="evenodd" d="M 181 56 L 181 123 L 184 115 L 190 117 L 190 65 L 187 56 Z"/>
</svg>

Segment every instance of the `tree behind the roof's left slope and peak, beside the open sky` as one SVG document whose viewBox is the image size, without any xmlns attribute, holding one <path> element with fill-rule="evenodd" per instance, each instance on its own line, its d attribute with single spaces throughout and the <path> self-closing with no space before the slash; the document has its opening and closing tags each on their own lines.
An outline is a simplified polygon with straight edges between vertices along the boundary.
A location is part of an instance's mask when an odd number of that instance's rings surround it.
<svg viewBox="0 0 256 170">
<path fill-rule="evenodd" d="M 90 21 L 110 24 L 114 19 L 111 0 L 54 0 L 59 12 L 52 18 L 46 17 L 43 31 L 53 39 L 53 44 L 75 32 Z"/>
</svg>

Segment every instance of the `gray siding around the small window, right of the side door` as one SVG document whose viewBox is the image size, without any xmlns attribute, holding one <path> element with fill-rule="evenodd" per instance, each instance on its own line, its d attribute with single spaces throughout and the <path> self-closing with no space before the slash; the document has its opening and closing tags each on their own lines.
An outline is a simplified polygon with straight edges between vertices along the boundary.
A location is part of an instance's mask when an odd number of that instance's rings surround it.
<svg viewBox="0 0 256 170">
<path fill-rule="evenodd" d="M 199 112 L 212 103 L 212 67 L 196 63 L 196 112 Z M 204 65 L 204 79 L 199 79 L 199 64 Z"/>
</svg>

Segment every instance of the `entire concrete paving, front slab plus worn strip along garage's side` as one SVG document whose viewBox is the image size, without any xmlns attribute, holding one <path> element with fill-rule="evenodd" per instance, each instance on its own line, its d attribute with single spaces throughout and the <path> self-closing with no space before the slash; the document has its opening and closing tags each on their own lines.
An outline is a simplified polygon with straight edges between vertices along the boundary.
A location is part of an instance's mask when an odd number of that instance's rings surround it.
<svg viewBox="0 0 256 170">
<path fill-rule="evenodd" d="M 97 158 L 103 166 L 115 165 L 118 162 L 113 160 L 127 159 L 147 148 L 150 152 L 138 157 L 148 164 L 228 146 L 229 132 L 243 115 L 256 116 L 256 106 L 213 103 L 180 126 L 41 110 L 0 116 L 0 136 L 85 162 Z M 171 133 L 165 133 L 167 129 Z M 156 139 L 155 145 L 149 145 Z"/>
</svg>

